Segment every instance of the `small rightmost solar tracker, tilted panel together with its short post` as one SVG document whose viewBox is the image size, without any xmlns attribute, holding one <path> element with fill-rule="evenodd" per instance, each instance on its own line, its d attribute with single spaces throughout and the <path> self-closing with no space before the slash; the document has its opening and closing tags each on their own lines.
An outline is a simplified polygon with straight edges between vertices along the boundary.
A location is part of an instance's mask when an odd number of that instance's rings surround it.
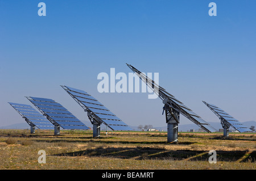
<svg viewBox="0 0 256 181">
<path fill-rule="evenodd" d="M 224 136 L 229 135 L 229 128 L 230 126 L 236 129 L 238 132 L 243 133 L 243 132 L 251 132 L 251 129 L 245 127 L 240 121 L 237 119 L 234 119 L 234 117 L 230 116 L 228 113 L 225 111 L 221 110 L 221 108 L 209 104 L 205 101 L 203 103 L 212 111 L 214 112 L 218 118 L 221 120 L 221 125 L 224 128 Z"/>
</svg>

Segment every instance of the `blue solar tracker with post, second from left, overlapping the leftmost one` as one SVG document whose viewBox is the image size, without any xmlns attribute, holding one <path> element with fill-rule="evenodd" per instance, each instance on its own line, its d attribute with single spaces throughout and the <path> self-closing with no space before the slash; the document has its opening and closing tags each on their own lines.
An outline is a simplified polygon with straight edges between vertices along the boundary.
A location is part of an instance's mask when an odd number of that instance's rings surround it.
<svg viewBox="0 0 256 181">
<path fill-rule="evenodd" d="M 63 129 L 89 129 L 61 104 L 52 99 L 26 97 L 44 116 L 54 124 L 55 135 Z"/>
</svg>

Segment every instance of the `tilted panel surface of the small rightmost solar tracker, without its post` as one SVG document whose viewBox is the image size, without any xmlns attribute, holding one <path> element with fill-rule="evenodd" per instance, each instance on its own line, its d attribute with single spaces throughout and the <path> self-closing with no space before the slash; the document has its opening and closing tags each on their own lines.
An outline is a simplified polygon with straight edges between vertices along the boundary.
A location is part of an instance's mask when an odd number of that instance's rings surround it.
<svg viewBox="0 0 256 181">
<path fill-rule="evenodd" d="M 237 129 L 237 131 L 239 131 L 241 133 L 251 131 L 251 129 L 245 127 L 240 121 L 238 121 L 237 119 L 234 119 L 234 117 L 230 116 L 228 113 L 221 110 L 221 108 L 219 108 L 213 104 L 209 104 L 205 101 L 203 101 L 203 103 L 208 108 L 210 108 L 210 110 L 212 110 L 221 120 L 226 121 L 231 127 L 233 127 L 234 129 Z"/>
</svg>

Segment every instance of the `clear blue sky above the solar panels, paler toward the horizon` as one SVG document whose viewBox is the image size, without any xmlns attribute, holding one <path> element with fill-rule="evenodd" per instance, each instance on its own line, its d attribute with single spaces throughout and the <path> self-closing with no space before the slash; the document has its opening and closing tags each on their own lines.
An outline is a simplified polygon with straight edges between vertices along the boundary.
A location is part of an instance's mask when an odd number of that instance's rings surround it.
<svg viewBox="0 0 256 181">
<path fill-rule="evenodd" d="M 38 16 L 38 3 L 46 16 Z M 217 16 L 208 4 L 216 2 Z M 129 125 L 164 126 L 160 99 L 97 92 L 98 73 L 159 73 L 159 84 L 205 121 L 201 100 L 256 120 L 256 1 L 0 1 L 0 126 L 24 120 L 7 102 L 51 98 L 81 120 L 60 85 L 82 89 Z M 191 123 L 181 117 L 181 124 Z M 90 125 L 88 125 L 90 126 Z"/>
</svg>

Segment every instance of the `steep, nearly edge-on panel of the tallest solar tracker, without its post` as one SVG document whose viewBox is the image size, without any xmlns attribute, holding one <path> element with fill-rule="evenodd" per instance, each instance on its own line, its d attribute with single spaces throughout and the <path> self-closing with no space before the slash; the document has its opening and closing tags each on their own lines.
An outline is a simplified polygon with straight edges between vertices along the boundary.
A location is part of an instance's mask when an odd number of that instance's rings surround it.
<svg viewBox="0 0 256 181">
<path fill-rule="evenodd" d="M 180 112 L 182 115 L 187 117 L 193 123 L 197 124 L 199 127 L 204 129 L 207 132 L 217 132 L 209 123 L 204 121 L 199 115 L 193 112 L 190 108 L 185 106 L 180 100 L 177 100 L 175 96 L 171 95 L 167 92 L 163 87 L 157 85 L 152 79 L 148 78 L 147 75 L 134 68 L 134 66 L 130 64 L 126 64 L 131 70 L 134 71 L 138 75 L 140 79 L 144 83 L 146 83 L 152 90 L 154 90 L 155 94 L 159 96 L 164 102 L 166 102 L 170 107 L 174 108 L 174 110 Z"/>
</svg>

